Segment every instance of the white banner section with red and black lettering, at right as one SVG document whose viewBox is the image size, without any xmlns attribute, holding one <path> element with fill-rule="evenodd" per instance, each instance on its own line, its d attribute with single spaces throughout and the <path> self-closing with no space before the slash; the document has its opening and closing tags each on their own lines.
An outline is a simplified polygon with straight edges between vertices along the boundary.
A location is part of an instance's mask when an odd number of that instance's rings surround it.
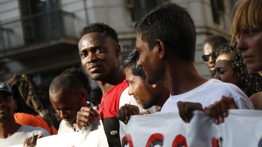
<svg viewBox="0 0 262 147">
<path fill-rule="evenodd" d="M 202 111 L 190 123 L 178 113 L 137 115 L 120 132 L 122 146 L 129 147 L 262 147 L 262 111 L 232 109 L 219 125 Z"/>
</svg>

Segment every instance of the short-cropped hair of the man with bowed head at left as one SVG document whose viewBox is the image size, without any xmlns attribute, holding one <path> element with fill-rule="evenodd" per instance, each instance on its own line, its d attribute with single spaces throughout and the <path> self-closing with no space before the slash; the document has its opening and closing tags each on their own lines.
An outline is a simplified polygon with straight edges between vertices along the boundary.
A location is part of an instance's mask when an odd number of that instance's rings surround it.
<svg viewBox="0 0 262 147">
<path fill-rule="evenodd" d="M 78 78 L 72 74 L 62 74 L 54 78 L 51 82 L 49 91 L 51 93 L 57 93 L 61 88 L 67 90 L 84 90 L 82 84 Z"/>
</svg>

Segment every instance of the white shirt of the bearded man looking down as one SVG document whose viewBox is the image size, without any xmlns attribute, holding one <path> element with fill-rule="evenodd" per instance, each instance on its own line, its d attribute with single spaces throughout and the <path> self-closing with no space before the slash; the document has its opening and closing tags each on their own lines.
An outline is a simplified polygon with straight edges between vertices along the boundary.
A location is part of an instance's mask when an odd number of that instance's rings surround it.
<svg viewBox="0 0 262 147">
<path fill-rule="evenodd" d="M 152 106 L 149 109 L 143 109 L 143 107 L 137 103 L 137 101 L 134 99 L 133 95 L 128 95 L 128 87 L 122 92 L 119 100 L 119 109 L 121 106 L 129 104 L 129 105 L 136 105 L 140 111 L 146 111 L 148 110 L 150 113 L 156 113 L 158 112 L 158 106 Z"/>
</svg>

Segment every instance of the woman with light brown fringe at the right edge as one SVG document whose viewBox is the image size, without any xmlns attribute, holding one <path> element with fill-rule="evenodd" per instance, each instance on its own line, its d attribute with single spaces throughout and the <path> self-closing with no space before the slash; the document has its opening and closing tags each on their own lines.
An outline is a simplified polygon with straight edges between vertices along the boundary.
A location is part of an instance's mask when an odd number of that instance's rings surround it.
<svg viewBox="0 0 262 147">
<path fill-rule="evenodd" d="M 232 23 L 232 39 L 252 73 L 262 71 L 262 0 L 247 0 L 237 10 Z M 262 109 L 262 92 L 250 97 L 255 109 Z"/>
</svg>

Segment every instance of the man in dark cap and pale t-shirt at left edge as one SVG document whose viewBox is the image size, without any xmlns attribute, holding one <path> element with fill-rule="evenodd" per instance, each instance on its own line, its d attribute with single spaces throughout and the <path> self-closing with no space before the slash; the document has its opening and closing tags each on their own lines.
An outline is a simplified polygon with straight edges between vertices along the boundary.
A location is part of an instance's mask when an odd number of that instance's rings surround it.
<svg viewBox="0 0 262 147">
<path fill-rule="evenodd" d="M 28 138 L 43 134 L 49 136 L 49 133 L 40 127 L 31 127 L 28 125 L 19 125 L 14 120 L 14 110 L 16 101 L 13 97 L 12 89 L 9 85 L 0 82 L 0 145 L 11 146 L 23 144 Z"/>
</svg>

